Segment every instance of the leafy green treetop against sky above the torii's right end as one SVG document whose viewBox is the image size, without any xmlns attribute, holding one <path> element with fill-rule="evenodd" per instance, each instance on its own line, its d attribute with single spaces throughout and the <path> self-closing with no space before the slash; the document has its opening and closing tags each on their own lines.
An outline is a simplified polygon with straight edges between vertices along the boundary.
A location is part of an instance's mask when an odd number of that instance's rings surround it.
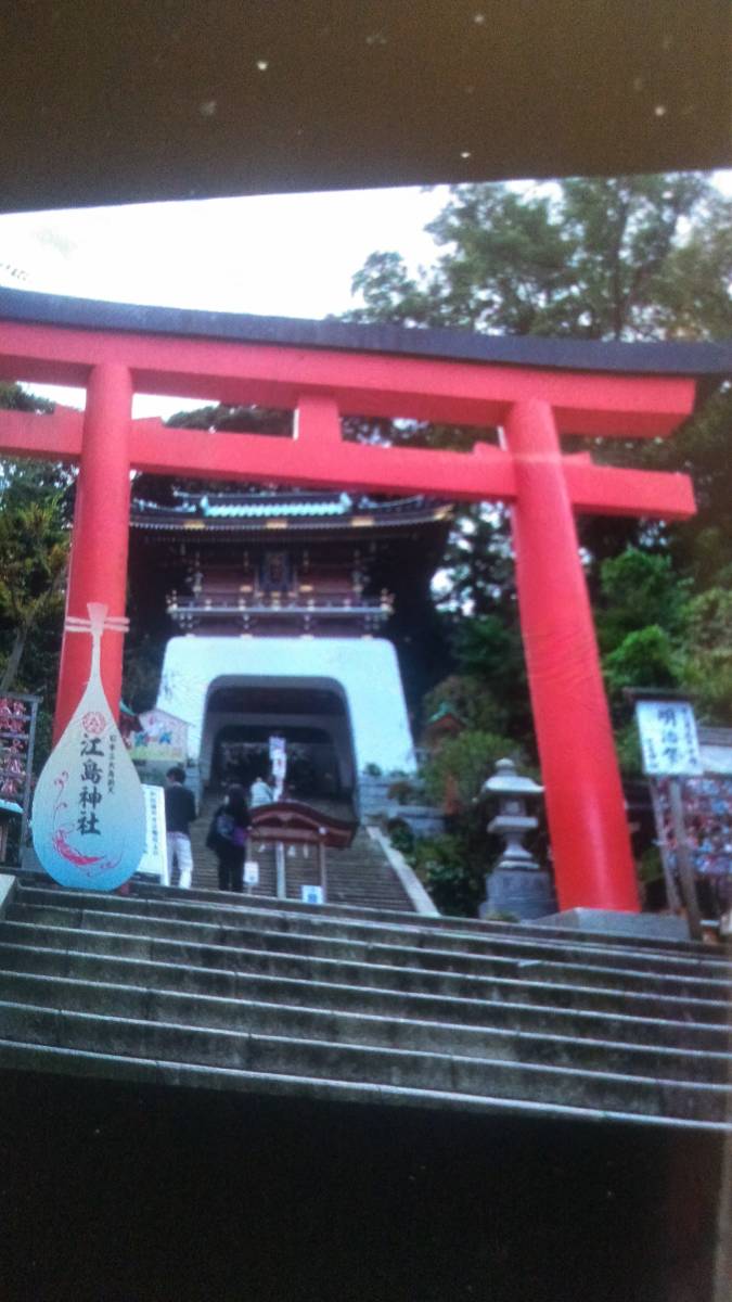
<svg viewBox="0 0 732 1302">
<path fill-rule="evenodd" d="M 444 250 L 435 267 L 414 279 L 399 254 L 371 254 L 350 318 L 574 339 L 724 335 L 731 215 L 698 174 L 456 186 L 427 227 Z"/>
</svg>

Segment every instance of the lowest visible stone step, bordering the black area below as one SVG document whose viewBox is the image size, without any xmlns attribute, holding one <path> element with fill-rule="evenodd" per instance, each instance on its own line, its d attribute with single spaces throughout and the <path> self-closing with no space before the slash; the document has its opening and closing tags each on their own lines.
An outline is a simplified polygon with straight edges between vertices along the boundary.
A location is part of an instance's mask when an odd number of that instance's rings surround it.
<svg viewBox="0 0 732 1302">
<path fill-rule="evenodd" d="M 590 1112 L 666 1117 L 723 1125 L 732 1091 L 723 1085 L 680 1082 L 626 1073 L 466 1057 L 331 1040 L 288 1039 L 178 1026 L 102 1014 L 0 1004 L 0 1061 L 7 1046 L 76 1049 L 82 1053 L 180 1062 L 234 1073 L 305 1078 L 320 1085 L 371 1085 L 422 1094 L 503 1098 Z M 38 1055 L 36 1055 L 38 1069 Z M 236 1081 L 232 1079 L 236 1087 Z"/>
</svg>

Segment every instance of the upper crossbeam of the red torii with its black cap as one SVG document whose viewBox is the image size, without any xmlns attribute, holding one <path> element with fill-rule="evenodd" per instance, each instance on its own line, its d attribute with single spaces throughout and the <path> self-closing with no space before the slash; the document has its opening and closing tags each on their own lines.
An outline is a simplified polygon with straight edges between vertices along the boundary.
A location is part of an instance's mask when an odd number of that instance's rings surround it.
<svg viewBox="0 0 732 1302">
<path fill-rule="evenodd" d="M 663 436 L 694 379 L 731 370 L 725 345 L 597 344 L 462 331 L 344 326 L 130 307 L 0 290 L 0 367 L 10 379 L 86 384 L 126 366 L 137 392 L 296 409 L 328 392 L 341 414 L 485 426 L 525 398 L 563 434 Z"/>
</svg>

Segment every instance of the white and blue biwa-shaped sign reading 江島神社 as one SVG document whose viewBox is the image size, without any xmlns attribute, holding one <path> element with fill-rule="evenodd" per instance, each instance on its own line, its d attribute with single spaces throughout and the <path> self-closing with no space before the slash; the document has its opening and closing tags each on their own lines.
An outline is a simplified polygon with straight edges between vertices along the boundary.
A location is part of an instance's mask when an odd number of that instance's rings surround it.
<svg viewBox="0 0 732 1302">
<path fill-rule="evenodd" d="M 64 887 L 113 891 L 145 852 L 145 797 L 100 674 L 106 629 L 124 618 L 87 605 L 89 620 L 66 620 L 69 633 L 91 634 L 91 671 L 61 740 L 46 762 L 33 802 L 33 844 L 46 871 Z"/>
</svg>

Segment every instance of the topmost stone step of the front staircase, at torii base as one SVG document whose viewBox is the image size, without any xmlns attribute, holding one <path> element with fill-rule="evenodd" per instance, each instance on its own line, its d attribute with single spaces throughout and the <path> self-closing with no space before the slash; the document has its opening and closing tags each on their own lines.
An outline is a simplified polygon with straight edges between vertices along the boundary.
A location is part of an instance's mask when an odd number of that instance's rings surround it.
<svg viewBox="0 0 732 1302">
<path fill-rule="evenodd" d="M 73 892 L 72 894 L 53 887 L 23 885 L 14 896 L 8 915 L 20 906 L 68 909 L 72 905 L 74 910 L 120 914 L 120 898 L 117 894 L 107 896 L 100 892 Z M 725 953 L 720 952 L 718 957 L 709 948 L 702 947 L 689 947 L 692 948 L 690 953 L 684 948 L 659 953 L 653 948 L 646 952 L 646 948 L 640 944 L 603 943 L 598 941 L 597 937 L 593 944 L 577 945 L 573 935 L 570 937 L 567 934 L 559 937 L 554 934 L 547 936 L 543 928 L 538 928 L 535 934 L 528 934 L 524 927 L 516 926 L 485 931 L 479 924 L 475 930 L 475 926 L 472 927 L 465 919 L 439 919 L 447 926 L 436 928 L 425 926 L 425 923 L 438 919 L 417 919 L 414 914 L 409 914 L 404 919 L 401 917 L 395 919 L 393 914 L 387 914 L 386 919 L 371 922 L 350 910 L 348 915 L 343 915 L 340 911 L 333 915 L 330 910 L 302 906 L 289 900 L 257 900 L 253 904 L 247 902 L 244 910 L 242 904 L 240 896 L 223 892 L 206 893 L 204 898 L 199 898 L 185 891 L 177 893 L 158 891 L 125 898 L 124 915 L 198 922 L 223 927 L 241 924 L 244 921 L 247 928 L 254 924 L 270 931 L 279 930 L 293 935 L 314 934 L 348 940 L 366 939 L 369 943 L 378 940 L 392 945 L 404 941 L 406 945 L 418 948 L 443 952 L 456 949 L 462 954 L 477 956 L 490 953 L 495 957 L 522 956 L 530 960 L 542 957 L 548 961 L 554 958 L 565 961 L 567 956 L 570 954 L 573 960 L 591 966 L 616 967 L 623 963 L 624 967 L 634 973 L 659 971 L 664 975 L 679 975 L 686 979 L 711 979 L 732 987 L 732 974 Z"/>
</svg>

